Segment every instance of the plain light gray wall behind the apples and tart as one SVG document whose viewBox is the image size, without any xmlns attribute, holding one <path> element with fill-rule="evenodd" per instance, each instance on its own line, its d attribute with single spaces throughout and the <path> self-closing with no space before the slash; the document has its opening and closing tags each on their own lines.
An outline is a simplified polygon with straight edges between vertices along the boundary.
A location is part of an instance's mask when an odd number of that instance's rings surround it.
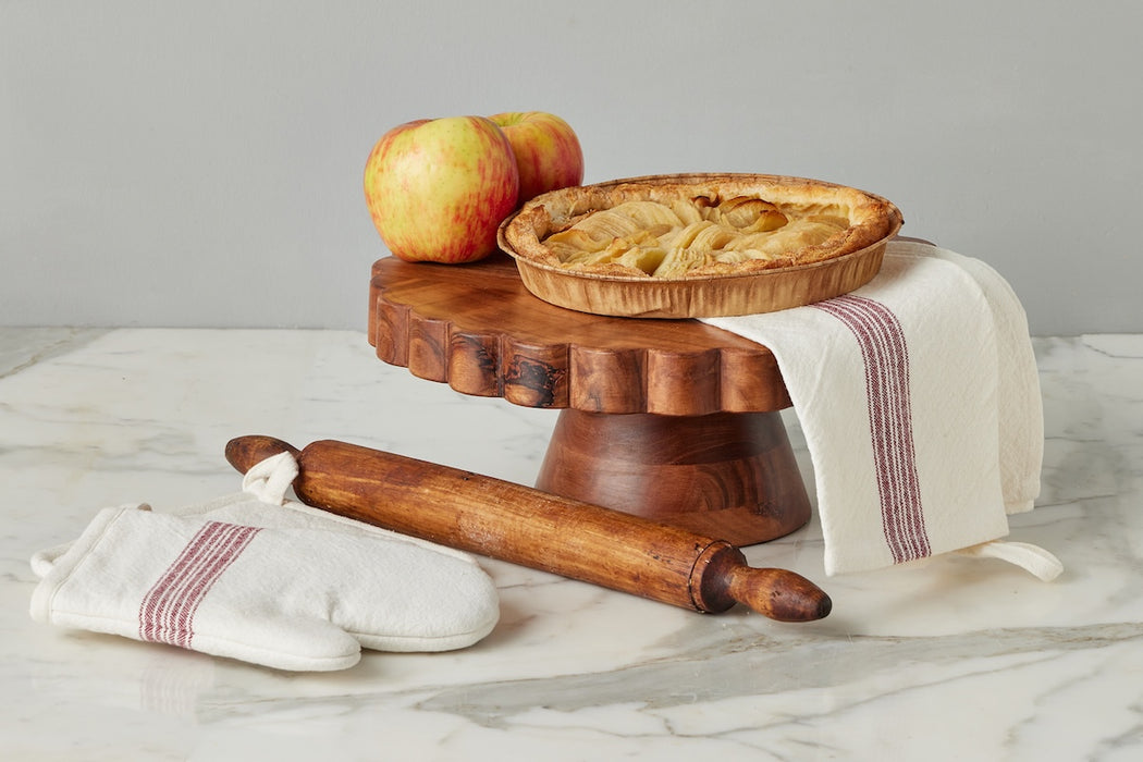
<svg viewBox="0 0 1143 762">
<path fill-rule="evenodd" d="M 588 182 L 855 185 L 1033 334 L 1140 331 L 1141 29 L 1134 0 L 0 0 L 0 324 L 365 330 L 374 142 L 539 110 Z"/>
</svg>

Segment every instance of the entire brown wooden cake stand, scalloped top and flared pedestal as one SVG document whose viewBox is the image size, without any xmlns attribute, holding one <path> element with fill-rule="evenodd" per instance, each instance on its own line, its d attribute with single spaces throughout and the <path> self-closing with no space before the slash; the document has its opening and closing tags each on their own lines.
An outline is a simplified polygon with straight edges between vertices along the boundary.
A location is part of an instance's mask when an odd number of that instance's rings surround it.
<svg viewBox="0 0 1143 762">
<path fill-rule="evenodd" d="M 734 545 L 809 520 L 765 346 L 696 320 L 604 318 L 529 294 L 506 255 L 373 266 L 377 356 L 464 394 L 559 409 L 536 487 Z"/>
</svg>

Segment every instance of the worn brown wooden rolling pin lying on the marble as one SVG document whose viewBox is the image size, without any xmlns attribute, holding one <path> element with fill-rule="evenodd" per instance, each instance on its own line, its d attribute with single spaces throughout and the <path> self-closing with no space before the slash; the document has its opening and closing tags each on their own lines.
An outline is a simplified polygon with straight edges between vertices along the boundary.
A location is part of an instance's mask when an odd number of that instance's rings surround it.
<svg viewBox="0 0 1143 762">
<path fill-rule="evenodd" d="M 226 460 L 246 473 L 283 451 L 297 458 L 303 503 L 392 531 L 697 611 L 744 603 L 782 621 L 830 612 L 812 581 L 749 567 L 725 540 L 491 476 L 331 440 L 298 451 L 240 436 Z"/>
</svg>

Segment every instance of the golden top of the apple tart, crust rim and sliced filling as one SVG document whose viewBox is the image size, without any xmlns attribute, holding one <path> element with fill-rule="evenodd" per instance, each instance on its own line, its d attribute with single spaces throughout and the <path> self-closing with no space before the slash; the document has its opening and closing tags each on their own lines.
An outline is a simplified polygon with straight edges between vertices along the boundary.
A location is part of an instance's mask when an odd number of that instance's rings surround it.
<svg viewBox="0 0 1143 762">
<path fill-rule="evenodd" d="M 901 227 L 889 201 L 776 175 L 660 176 L 570 187 L 502 230 L 518 260 L 583 275 L 705 279 L 842 257 Z"/>
</svg>

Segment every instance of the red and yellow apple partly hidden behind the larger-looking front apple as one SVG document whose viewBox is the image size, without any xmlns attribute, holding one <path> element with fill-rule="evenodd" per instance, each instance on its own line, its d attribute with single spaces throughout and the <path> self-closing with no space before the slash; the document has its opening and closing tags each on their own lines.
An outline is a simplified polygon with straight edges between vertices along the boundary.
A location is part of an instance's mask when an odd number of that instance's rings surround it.
<svg viewBox="0 0 1143 762">
<path fill-rule="evenodd" d="M 489 117 L 507 136 L 520 171 L 517 206 L 541 193 L 583 182 L 583 150 L 572 127 L 542 111 L 511 111 Z"/>
</svg>

